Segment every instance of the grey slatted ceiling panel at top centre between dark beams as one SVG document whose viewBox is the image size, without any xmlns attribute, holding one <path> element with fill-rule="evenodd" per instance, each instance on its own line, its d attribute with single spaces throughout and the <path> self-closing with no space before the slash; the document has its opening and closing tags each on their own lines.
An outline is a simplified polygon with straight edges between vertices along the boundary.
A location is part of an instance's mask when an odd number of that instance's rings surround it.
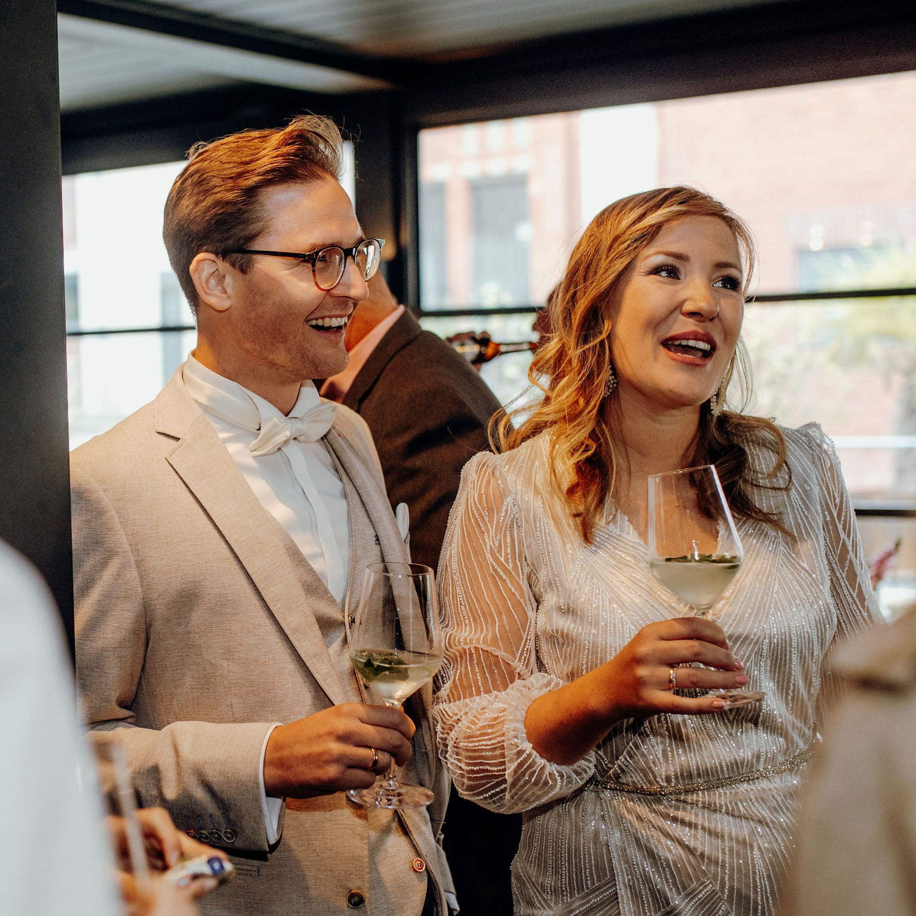
<svg viewBox="0 0 916 916">
<path fill-rule="evenodd" d="M 430 58 L 526 38 L 703 13 L 762 0 L 174 0 L 389 56 Z"/>
</svg>

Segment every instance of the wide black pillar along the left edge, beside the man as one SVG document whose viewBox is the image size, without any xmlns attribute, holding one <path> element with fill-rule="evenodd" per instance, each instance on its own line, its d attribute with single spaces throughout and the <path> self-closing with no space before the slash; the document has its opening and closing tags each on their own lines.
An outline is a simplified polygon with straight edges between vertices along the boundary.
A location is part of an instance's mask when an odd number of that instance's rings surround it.
<svg viewBox="0 0 916 916">
<path fill-rule="evenodd" d="M 54 0 L 0 3 L 0 538 L 73 640 Z"/>
</svg>

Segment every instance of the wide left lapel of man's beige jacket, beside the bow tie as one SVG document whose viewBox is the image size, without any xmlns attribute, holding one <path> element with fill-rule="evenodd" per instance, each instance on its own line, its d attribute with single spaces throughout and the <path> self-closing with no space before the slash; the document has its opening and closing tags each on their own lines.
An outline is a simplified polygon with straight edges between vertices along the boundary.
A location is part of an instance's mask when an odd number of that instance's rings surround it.
<svg viewBox="0 0 916 916">
<path fill-rule="evenodd" d="M 178 378 L 180 390 L 175 389 Z M 271 613 L 331 703 L 349 699 L 322 638 L 312 608 L 341 614 L 340 605 L 251 487 L 220 442 L 210 420 L 175 376 L 157 399 L 157 430 L 180 441 L 166 456 L 220 529 Z"/>
</svg>

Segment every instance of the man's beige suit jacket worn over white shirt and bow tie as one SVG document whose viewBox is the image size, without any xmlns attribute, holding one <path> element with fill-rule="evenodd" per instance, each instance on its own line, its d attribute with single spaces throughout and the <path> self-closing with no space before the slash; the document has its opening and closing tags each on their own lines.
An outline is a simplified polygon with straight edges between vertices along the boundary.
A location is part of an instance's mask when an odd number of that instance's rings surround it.
<svg viewBox="0 0 916 916">
<path fill-rule="evenodd" d="M 354 600 L 366 562 L 409 553 L 363 420 L 341 408 L 324 442 L 347 496 Z M 120 729 L 144 805 L 161 804 L 234 856 L 238 880 L 204 911 L 351 913 L 358 890 L 364 912 L 414 916 L 429 877 L 447 912 L 437 838 L 448 783 L 429 687 L 409 710 L 418 729 L 406 775 L 435 791 L 430 812 L 367 812 L 343 793 L 290 801 L 268 848 L 258 782 L 267 730 L 359 702 L 361 687 L 341 605 L 261 507 L 181 370 L 153 403 L 72 453 L 71 474 L 88 721 Z"/>
</svg>

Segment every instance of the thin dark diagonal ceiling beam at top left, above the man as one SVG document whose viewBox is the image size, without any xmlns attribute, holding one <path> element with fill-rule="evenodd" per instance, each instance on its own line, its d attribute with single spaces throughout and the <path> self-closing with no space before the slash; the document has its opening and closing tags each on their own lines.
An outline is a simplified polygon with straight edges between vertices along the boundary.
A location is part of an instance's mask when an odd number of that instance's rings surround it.
<svg viewBox="0 0 916 916">
<path fill-rule="evenodd" d="M 241 19 L 212 16 L 147 0 L 58 0 L 58 12 L 221 48 L 296 60 L 386 82 L 399 82 L 397 61 L 363 54 L 333 41 Z"/>
</svg>

